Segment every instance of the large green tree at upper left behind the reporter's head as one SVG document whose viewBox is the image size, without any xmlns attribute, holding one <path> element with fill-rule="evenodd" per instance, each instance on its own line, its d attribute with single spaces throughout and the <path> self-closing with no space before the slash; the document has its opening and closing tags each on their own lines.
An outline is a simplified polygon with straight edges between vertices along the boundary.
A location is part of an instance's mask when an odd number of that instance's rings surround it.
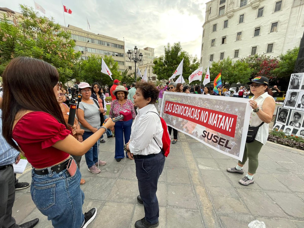
<svg viewBox="0 0 304 228">
<path fill-rule="evenodd" d="M 28 56 L 42 59 L 57 68 L 60 81 L 73 77 L 72 68 L 81 53 L 75 53 L 71 33 L 63 32 L 53 18 L 36 13 L 33 8 L 20 5 L 21 16 L 12 15 L 0 21 L 0 74 L 12 58 Z"/>
</svg>

